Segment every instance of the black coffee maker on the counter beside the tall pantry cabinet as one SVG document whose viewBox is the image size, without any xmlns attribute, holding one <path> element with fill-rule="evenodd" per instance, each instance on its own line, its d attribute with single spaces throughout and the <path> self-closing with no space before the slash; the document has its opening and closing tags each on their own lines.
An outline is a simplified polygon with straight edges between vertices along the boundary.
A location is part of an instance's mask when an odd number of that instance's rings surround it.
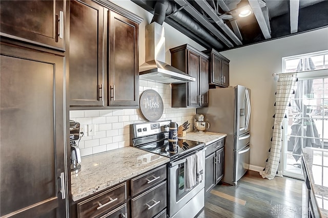
<svg viewBox="0 0 328 218">
<path fill-rule="evenodd" d="M 71 145 L 71 174 L 81 169 L 81 155 L 78 147 L 80 140 L 80 123 L 70 120 L 70 145 Z"/>
</svg>

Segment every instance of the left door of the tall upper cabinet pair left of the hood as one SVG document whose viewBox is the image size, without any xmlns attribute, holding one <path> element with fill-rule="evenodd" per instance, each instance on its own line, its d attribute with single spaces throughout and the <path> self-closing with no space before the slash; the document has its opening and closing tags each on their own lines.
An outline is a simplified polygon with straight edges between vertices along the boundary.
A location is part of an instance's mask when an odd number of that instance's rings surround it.
<svg viewBox="0 0 328 218">
<path fill-rule="evenodd" d="M 103 88 L 107 69 L 107 34 L 104 33 L 107 32 L 107 11 L 91 1 L 70 1 L 71 106 L 105 105 Z"/>
</svg>

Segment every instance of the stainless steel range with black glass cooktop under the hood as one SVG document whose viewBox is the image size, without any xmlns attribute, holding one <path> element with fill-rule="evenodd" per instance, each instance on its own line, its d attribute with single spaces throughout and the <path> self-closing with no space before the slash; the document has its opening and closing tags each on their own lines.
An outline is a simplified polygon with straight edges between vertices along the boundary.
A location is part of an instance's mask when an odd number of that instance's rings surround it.
<svg viewBox="0 0 328 218">
<path fill-rule="evenodd" d="M 178 139 L 169 142 L 171 120 L 131 124 L 132 146 L 170 158 L 168 163 L 169 217 L 194 217 L 204 207 L 204 170 L 196 174 L 196 184 L 188 188 L 187 158 L 197 154 L 205 166 L 205 144 Z"/>
</svg>

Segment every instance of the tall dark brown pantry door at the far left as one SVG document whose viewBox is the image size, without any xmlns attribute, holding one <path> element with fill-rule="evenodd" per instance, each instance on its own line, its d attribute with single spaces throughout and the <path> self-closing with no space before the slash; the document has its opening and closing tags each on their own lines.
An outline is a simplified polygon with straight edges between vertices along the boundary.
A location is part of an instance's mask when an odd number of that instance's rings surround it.
<svg viewBox="0 0 328 218">
<path fill-rule="evenodd" d="M 1 43 L 1 217 L 65 217 L 65 58 Z"/>
</svg>

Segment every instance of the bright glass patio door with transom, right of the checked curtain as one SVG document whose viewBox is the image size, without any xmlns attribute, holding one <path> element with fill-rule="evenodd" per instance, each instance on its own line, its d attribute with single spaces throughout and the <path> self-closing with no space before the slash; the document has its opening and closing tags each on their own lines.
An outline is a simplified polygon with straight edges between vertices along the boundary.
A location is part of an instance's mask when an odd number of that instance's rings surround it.
<svg viewBox="0 0 328 218">
<path fill-rule="evenodd" d="M 283 124 L 282 172 L 302 178 L 301 149 L 328 149 L 328 50 L 284 57 L 282 70 L 298 72 Z"/>
</svg>

